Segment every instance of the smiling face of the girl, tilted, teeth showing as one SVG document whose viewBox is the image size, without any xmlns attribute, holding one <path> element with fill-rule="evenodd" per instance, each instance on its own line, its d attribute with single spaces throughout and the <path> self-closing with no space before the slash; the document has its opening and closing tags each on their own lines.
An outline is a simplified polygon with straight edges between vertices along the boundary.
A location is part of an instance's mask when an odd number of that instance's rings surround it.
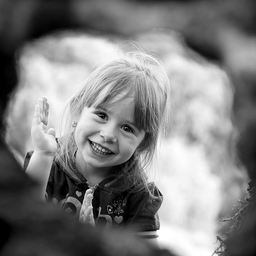
<svg viewBox="0 0 256 256">
<path fill-rule="evenodd" d="M 86 107 L 81 112 L 75 131 L 80 164 L 105 168 L 125 163 L 143 141 L 145 131 L 132 123 L 133 97 L 116 102 L 120 97 L 104 109 Z"/>
</svg>

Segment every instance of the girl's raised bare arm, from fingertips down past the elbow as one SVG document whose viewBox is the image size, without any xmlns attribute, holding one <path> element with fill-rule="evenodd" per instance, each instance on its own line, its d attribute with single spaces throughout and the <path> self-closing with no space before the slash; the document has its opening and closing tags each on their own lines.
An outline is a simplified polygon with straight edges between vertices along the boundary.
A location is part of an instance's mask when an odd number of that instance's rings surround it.
<svg viewBox="0 0 256 256">
<path fill-rule="evenodd" d="M 39 196 L 44 198 L 49 179 L 52 161 L 57 150 L 55 130 L 47 131 L 49 103 L 46 97 L 38 99 L 35 105 L 35 113 L 32 121 L 31 137 L 34 145 L 32 155 L 26 173 L 39 183 Z"/>
</svg>

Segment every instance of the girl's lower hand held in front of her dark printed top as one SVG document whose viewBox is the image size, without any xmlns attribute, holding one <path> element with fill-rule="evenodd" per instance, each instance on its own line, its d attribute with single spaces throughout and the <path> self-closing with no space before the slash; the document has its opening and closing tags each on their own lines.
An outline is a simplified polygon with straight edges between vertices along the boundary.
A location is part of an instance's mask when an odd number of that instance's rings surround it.
<svg viewBox="0 0 256 256">
<path fill-rule="evenodd" d="M 80 210 L 79 221 L 82 223 L 88 223 L 95 227 L 95 221 L 93 218 L 93 206 L 92 206 L 92 190 L 87 189 L 84 195 L 84 201 Z"/>
</svg>

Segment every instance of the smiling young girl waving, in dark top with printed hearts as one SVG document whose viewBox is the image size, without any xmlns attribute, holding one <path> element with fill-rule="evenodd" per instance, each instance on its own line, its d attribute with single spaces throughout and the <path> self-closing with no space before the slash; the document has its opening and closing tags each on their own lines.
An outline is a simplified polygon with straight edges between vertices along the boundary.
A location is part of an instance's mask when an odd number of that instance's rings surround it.
<svg viewBox="0 0 256 256">
<path fill-rule="evenodd" d="M 38 99 L 34 151 L 24 169 L 40 196 L 93 226 L 132 227 L 157 238 L 163 196 L 148 182 L 157 139 L 169 124 L 169 81 L 162 64 L 129 52 L 96 69 L 67 105 L 63 134 L 47 131 L 49 103 Z"/>
</svg>

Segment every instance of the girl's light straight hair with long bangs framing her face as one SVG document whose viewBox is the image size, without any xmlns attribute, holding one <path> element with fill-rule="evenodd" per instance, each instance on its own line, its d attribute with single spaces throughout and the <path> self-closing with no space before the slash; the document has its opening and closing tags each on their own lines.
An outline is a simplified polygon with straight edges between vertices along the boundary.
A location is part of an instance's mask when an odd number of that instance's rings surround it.
<svg viewBox="0 0 256 256">
<path fill-rule="evenodd" d="M 154 159 L 157 141 L 165 137 L 169 127 L 169 79 L 157 58 L 144 52 L 123 52 L 116 59 L 94 70 L 67 104 L 64 135 L 59 140 L 58 154 L 72 166 L 76 142 L 72 122 L 79 119 L 84 107 L 102 107 L 120 93 L 134 97 L 134 120 L 145 131 L 136 157 L 122 164 L 125 171 L 137 161 L 134 183 L 147 188 L 144 169 Z M 122 100 L 122 98 L 120 99 Z"/>
</svg>

